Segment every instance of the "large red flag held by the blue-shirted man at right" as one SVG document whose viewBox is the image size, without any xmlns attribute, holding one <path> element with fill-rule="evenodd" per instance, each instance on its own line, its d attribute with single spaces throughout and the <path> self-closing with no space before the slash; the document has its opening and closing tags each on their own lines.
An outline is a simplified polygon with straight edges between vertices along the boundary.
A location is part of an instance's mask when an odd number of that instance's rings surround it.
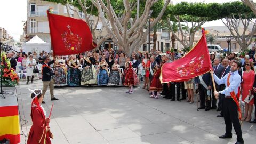
<svg viewBox="0 0 256 144">
<path fill-rule="evenodd" d="M 183 58 L 163 65 L 161 83 L 188 81 L 212 69 L 204 29 L 202 33 L 199 42 Z"/>
</svg>

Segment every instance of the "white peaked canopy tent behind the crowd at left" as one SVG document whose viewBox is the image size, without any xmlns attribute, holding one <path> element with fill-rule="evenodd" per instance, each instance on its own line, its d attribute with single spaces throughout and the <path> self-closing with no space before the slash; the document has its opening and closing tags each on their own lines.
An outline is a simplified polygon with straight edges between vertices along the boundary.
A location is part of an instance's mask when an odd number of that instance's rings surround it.
<svg viewBox="0 0 256 144">
<path fill-rule="evenodd" d="M 43 50 L 47 53 L 51 52 L 51 45 L 44 42 L 38 36 L 34 36 L 28 42 L 23 44 L 23 51 L 26 53 L 35 51 L 37 54 L 39 54 Z"/>
</svg>

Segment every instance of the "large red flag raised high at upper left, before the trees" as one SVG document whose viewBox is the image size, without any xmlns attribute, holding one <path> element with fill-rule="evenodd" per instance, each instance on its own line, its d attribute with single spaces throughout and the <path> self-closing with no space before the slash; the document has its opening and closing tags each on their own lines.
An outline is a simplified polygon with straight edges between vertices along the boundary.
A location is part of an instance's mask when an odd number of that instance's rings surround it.
<svg viewBox="0 0 256 144">
<path fill-rule="evenodd" d="M 50 12 L 49 12 L 50 11 Z M 70 55 L 92 50 L 97 46 L 87 23 L 47 11 L 53 55 Z"/>
</svg>

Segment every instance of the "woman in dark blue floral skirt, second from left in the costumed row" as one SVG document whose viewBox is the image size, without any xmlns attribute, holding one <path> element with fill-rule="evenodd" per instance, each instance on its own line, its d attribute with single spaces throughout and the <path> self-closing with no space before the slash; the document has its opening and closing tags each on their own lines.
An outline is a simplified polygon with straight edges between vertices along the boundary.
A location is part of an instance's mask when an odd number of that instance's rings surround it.
<svg viewBox="0 0 256 144">
<path fill-rule="evenodd" d="M 68 86 L 79 86 L 81 72 L 79 70 L 80 62 L 76 59 L 76 55 L 71 55 L 68 62 Z"/>
</svg>

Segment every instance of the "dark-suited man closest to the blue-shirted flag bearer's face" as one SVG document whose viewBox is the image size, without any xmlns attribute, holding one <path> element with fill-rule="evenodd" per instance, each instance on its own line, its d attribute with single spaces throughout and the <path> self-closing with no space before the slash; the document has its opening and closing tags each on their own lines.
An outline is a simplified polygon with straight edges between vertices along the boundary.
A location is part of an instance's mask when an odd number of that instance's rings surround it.
<svg viewBox="0 0 256 144">
<path fill-rule="evenodd" d="M 230 66 L 228 65 L 229 63 L 229 60 L 228 59 L 223 59 L 221 61 L 221 65 L 224 67 L 222 73 L 221 73 L 221 77 L 224 77 L 226 74 L 229 73 L 230 71 Z M 225 84 L 221 84 L 220 85 L 220 91 L 223 91 L 225 89 Z M 219 96 L 219 103 L 218 103 L 218 108 L 217 108 L 217 111 L 221 111 L 220 114 L 217 116 L 217 117 L 223 117 L 223 113 L 222 113 L 222 105 L 223 105 L 223 99 L 225 98 L 225 95 L 224 94 L 220 94 Z"/>
</svg>

